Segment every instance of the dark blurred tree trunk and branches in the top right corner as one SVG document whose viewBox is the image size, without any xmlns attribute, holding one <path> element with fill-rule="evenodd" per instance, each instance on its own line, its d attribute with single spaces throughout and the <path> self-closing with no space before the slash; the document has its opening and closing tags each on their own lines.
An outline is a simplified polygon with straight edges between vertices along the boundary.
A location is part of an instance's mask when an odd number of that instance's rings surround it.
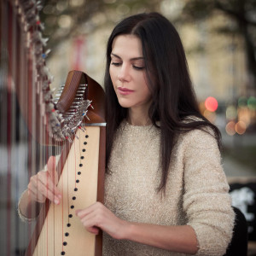
<svg viewBox="0 0 256 256">
<path fill-rule="evenodd" d="M 183 22 L 211 19 L 216 12 L 233 20 L 229 26 L 218 27 L 218 32 L 240 35 L 244 40 L 247 56 L 247 87 L 256 90 L 256 1 L 255 0 L 185 0 Z"/>
</svg>

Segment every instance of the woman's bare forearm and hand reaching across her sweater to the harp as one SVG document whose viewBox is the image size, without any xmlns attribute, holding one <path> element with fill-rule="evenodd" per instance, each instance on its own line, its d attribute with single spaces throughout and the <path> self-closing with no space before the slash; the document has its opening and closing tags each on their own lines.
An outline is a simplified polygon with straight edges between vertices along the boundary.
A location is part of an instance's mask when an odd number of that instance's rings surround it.
<svg viewBox="0 0 256 256">
<path fill-rule="evenodd" d="M 77 215 L 86 230 L 96 235 L 100 228 L 115 239 L 137 241 L 172 252 L 195 254 L 198 249 L 195 231 L 188 225 L 163 226 L 127 222 L 117 218 L 99 202 L 78 210 Z"/>
</svg>

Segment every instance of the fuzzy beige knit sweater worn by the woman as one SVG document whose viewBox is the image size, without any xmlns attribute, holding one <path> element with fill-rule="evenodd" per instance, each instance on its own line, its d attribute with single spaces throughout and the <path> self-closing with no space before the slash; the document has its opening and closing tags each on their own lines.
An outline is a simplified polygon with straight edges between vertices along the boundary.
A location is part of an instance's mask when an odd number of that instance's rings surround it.
<svg viewBox="0 0 256 256">
<path fill-rule="evenodd" d="M 160 131 L 154 126 L 122 123 L 113 143 L 106 175 L 105 204 L 119 218 L 148 224 L 189 224 L 195 230 L 196 255 L 223 255 L 234 223 L 216 140 L 205 131 L 181 135 L 174 148 L 166 183 L 160 184 Z M 185 255 L 134 241 L 103 236 L 103 255 Z"/>
</svg>

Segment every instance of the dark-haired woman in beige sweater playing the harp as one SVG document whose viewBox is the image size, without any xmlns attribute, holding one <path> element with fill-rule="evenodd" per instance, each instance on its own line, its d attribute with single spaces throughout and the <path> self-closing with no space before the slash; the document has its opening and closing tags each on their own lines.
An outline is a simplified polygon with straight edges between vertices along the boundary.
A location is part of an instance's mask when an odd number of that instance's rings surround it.
<svg viewBox="0 0 256 256">
<path fill-rule="evenodd" d="M 84 228 L 104 231 L 104 255 L 223 255 L 234 212 L 220 135 L 198 110 L 183 45 L 165 17 L 133 15 L 113 29 L 105 89 L 105 204 L 76 212 Z M 48 166 L 54 173 L 53 159 Z M 47 176 L 32 177 L 21 214 L 46 197 L 59 202 Z"/>
</svg>

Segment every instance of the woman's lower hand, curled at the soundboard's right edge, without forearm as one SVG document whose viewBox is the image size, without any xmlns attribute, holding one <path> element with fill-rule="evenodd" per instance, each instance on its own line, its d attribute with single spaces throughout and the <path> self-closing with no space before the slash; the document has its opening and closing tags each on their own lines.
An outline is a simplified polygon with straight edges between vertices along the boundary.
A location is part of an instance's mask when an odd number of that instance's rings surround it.
<svg viewBox="0 0 256 256">
<path fill-rule="evenodd" d="M 98 235 L 99 229 L 102 229 L 115 239 L 125 238 L 125 227 L 128 227 L 129 223 L 117 218 L 100 202 L 96 202 L 83 210 L 77 210 L 76 214 L 84 228 L 90 233 Z"/>
</svg>

